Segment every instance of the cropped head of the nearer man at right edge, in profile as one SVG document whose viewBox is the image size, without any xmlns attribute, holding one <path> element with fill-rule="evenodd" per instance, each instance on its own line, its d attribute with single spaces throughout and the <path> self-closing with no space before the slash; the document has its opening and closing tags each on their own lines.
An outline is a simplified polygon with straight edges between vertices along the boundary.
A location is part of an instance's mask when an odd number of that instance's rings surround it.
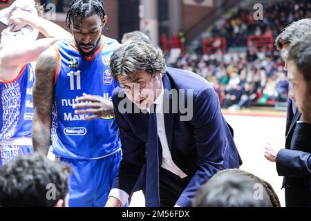
<svg viewBox="0 0 311 221">
<path fill-rule="evenodd" d="M 290 46 L 288 53 L 290 99 L 294 100 L 305 122 L 311 123 L 311 34 Z"/>
</svg>

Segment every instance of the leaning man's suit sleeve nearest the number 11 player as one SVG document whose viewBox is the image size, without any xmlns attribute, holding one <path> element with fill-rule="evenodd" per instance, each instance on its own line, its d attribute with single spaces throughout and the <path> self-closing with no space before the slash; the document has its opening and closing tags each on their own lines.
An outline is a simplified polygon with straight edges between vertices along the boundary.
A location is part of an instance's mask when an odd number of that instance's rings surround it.
<svg viewBox="0 0 311 221">
<path fill-rule="evenodd" d="M 133 133 L 123 115 L 118 111 L 118 101 L 118 98 L 113 98 L 115 119 L 119 127 L 122 144 L 122 160 L 112 189 L 122 189 L 130 195 L 144 165 L 145 144 Z"/>
</svg>

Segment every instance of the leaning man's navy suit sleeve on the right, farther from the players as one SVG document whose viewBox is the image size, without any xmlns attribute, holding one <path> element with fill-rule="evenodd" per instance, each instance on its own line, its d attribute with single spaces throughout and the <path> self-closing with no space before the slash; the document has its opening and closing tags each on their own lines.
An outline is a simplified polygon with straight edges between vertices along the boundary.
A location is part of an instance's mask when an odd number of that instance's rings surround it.
<svg viewBox="0 0 311 221">
<path fill-rule="evenodd" d="M 219 170 L 228 167 L 226 159 L 230 145 L 236 149 L 213 88 L 201 90 L 194 98 L 191 124 L 194 127 L 198 169 L 176 202 L 179 206 L 190 206 L 200 186 Z"/>
</svg>

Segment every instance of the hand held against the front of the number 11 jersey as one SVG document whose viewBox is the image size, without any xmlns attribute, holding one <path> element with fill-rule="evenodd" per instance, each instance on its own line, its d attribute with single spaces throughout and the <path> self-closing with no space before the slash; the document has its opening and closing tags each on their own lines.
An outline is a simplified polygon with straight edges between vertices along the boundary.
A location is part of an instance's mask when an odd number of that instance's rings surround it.
<svg viewBox="0 0 311 221">
<path fill-rule="evenodd" d="M 75 99 L 75 102 L 77 102 L 77 104 L 73 105 L 75 114 L 93 114 L 85 116 L 84 119 L 86 120 L 114 115 L 112 102 L 104 99 L 104 97 L 83 93 L 82 97 Z"/>
</svg>

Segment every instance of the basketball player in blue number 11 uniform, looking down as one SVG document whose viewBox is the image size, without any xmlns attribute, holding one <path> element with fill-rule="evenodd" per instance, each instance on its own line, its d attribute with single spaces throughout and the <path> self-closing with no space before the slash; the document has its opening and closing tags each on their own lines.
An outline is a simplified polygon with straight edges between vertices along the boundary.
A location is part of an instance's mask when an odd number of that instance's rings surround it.
<svg viewBox="0 0 311 221">
<path fill-rule="evenodd" d="M 35 151 L 48 152 L 55 104 L 53 152 L 73 169 L 69 206 L 104 206 L 121 160 L 111 102 L 117 84 L 109 68 L 120 44 L 102 35 L 106 22 L 102 1 L 72 1 L 66 23 L 73 36 L 37 61 L 32 142 Z"/>
</svg>

